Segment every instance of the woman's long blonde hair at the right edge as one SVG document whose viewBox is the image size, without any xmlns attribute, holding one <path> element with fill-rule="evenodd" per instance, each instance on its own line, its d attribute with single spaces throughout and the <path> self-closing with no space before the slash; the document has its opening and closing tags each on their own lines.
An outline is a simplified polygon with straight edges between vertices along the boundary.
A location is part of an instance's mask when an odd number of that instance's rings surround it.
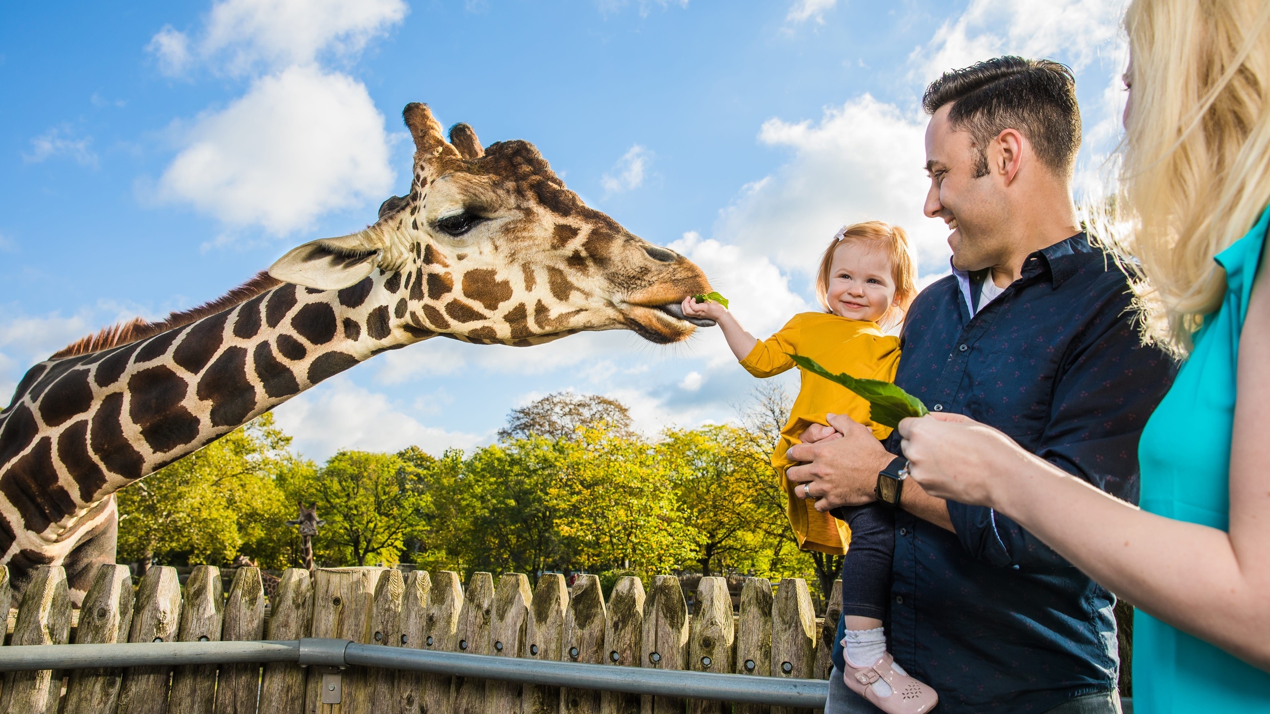
<svg viewBox="0 0 1270 714">
<path fill-rule="evenodd" d="M 1133 107 L 1104 231 L 1129 257 L 1143 337 L 1185 354 L 1226 292 L 1213 257 L 1270 202 L 1270 3 L 1134 0 Z"/>
</svg>

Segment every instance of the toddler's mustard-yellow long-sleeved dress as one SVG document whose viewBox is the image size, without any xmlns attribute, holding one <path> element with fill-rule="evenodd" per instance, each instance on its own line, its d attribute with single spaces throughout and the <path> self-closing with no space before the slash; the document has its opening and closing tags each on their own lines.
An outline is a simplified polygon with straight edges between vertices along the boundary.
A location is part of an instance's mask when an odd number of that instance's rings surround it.
<svg viewBox="0 0 1270 714">
<path fill-rule="evenodd" d="M 834 374 L 895 381 L 899 338 L 883 334 L 876 323 L 828 313 L 800 313 L 780 332 L 759 340 L 740 361 L 740 366 L 756 377 L 771 377 L 794 366 L 790 354 L 810 357 Z M 799 548 L 842 555 L 851 542 L 851 529 L 833 516 L 817 511 L 810 501 L 794 495 L 794 489 L 785 478 L 785 469 L 796 461 L 786 459 L 785 452 L 799 443 L 798 434 L 808 426 L 828 423 L 827 413 L 846 414 L 869 427 L 880 440 L 890 436 L 890 427 L 875 424 L 869 418 L 869 403 L 847 387 L 808 372 L 801 376 L 803 384 L 790 409 L 790 419 L 781 429 L 781 441 L 772 452 L 772 466 L 785 490 L 786 513 Z"/>
</svg>

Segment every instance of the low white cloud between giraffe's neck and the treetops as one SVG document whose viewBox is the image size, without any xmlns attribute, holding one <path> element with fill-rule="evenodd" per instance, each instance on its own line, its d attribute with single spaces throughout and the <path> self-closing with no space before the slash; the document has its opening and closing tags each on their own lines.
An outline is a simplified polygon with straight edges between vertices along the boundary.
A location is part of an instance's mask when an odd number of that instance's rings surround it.
<svg viewBox="0 0 1270 714">
<path fill-rule="evenodd" d="M 450 447 L 488 443 L 493 437 L 423 426 L 386 395 L 361 387 L 347 376 L 333 377 L 273 412 L 278 426 L 295 434 L 295 447 L 318 460 L 340 448 L 400 451 L 411 445 L 441 454 Z"/>
</svg>

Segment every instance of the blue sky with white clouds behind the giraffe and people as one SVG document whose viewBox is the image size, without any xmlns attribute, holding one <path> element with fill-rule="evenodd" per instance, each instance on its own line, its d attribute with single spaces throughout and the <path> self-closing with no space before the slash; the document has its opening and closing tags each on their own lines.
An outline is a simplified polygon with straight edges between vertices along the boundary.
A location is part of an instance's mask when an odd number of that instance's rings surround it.
<svg viewBox="0 0 1270 714">
<path fill-rule="evenodd" d="M 947 249 L 921 215 L 925 84 L 1006 52 L 1069 64 L 1092 194 L 1118 138 L 1119 17 L 1097 0 L 5 4 L 0 401 L 88 332 L 372 222 L 406 192 L 417 100 L 485 144 L 532 141 L 589 205 L 697 260 L 756 334 L 810 309 L 845 222 L 909 229 L 930 280 Z M 718 330 L 428 340 L 277 414 L 314 457 L 439 452 L 555 390 L 621 399 L 653 434 L 733 419 L 753 386 Z"/>
</svg>

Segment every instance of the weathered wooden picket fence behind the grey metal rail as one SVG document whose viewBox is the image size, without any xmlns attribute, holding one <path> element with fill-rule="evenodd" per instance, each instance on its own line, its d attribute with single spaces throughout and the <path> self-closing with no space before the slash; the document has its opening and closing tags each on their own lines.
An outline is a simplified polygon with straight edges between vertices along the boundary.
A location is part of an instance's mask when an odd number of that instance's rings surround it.
<svg viewBox="0 0 1270 714">
<path fill-rule="evenodd" d="M 748 578 L 739 614 L 724 578 L 701 578 L 690 614 L 679 579 L 617 581 L 608 602 L 596 576 L 573 588 L 544 574 L 532 591 L 519 573 L 494 582 L 474 573 L 403 574 L 389 568 L 283 572 L 265 609 L 260 572 L 239 568 L 224 593 L 220 570 L 194 569 L 184 592 L 177 570 L 151 568 L 137 588 L 124 565 L 103 565 L 83 607 L 71 610 L 66 576 L 41 567 L 22 595 L 11 644 L 295 640 L 364 644 L 564 662 L 828 678 L 841 611 L 836 583 L 817 619 L 806 582 Z M 10 601 L 0 567 L 0 606 Z M 77 625 L 72 628 L 76 620 Z M 74 633 L 74 634 L 72 634 Z M 10 714 L 806 714 L 612 691 L 572 690 L 418 672 L 351 667 L 340 704 L 321 704 L 320 675 L 296 664 L 211 664 L 9 672 L 0 711 Z"/>
</svg>

